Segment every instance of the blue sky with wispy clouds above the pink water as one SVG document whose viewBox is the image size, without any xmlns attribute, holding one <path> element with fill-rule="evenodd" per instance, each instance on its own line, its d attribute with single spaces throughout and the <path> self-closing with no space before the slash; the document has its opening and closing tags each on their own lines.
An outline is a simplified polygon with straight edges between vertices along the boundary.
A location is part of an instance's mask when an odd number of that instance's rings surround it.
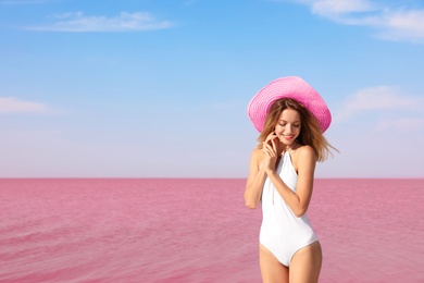
<svg viewBox="0 0 424 283">
<path fill-rule="evenodd" d="M 424 2 L 0 0 L 0 177 L 246 177 L 246 107 L 297 75 L 317 177 L 424 177 Z"/>
</svg>

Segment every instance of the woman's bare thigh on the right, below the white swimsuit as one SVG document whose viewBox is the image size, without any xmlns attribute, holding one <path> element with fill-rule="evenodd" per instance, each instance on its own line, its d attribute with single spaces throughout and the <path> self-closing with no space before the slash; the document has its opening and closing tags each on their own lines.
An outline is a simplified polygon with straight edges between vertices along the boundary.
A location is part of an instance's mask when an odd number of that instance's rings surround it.
<svg viewBox="0 0 424 283">
<path fill-rule="evenodd" d="M 323 254 L 320 242 L 299 249 L 290 261 L 290 282 L 317 282 L 322 263 Z"/>
</svg>

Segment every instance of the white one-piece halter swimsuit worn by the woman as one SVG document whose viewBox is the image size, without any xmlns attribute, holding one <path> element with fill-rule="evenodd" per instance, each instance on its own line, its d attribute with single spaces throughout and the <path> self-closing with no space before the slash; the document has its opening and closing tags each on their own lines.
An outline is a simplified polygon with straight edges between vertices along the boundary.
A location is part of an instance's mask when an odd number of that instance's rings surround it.
<svg viewBox="0 0 424 283">
<path fill-rule="evenodd" d="M 276 172 L 296 193 L 298 175 L 288 151 L 284 153 Z M 286 267 L 296 251 L 317 241 L 307 214 L 296 217 L 269 177 L 262 190 L 262 214 L 259 242 Z"/>
</svg>

